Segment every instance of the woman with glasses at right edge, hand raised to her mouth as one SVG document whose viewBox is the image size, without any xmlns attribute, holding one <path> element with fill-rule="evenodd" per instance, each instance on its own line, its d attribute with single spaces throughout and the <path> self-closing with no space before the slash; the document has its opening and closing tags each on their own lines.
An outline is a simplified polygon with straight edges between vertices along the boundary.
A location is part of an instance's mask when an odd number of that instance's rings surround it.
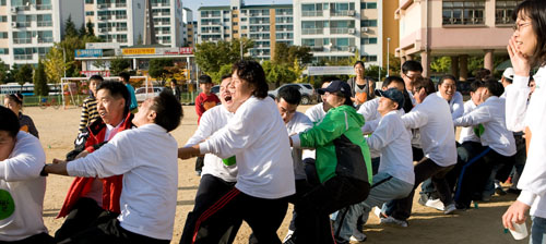
<svg viewBox="0 0 546 244">
<path fill-rule="evenodd" d="M 518 183 L 522 192 L 502 216 L 506 228 L 524 223 L 531 209 L 533 225 L 530 243 L 546 242 L 546 4 L 543 0 L 527 0 L 514 11 L 514 33 L 509 40 L 508 53 L 514 69 L 512 85 L 507 87 L 507 126 L 511 131 L 523 131 L 531 137 L 527 161 Z M 527 105 L 529 74 L 533 75 L 536 88 Z M 531 207 L 532 206 L 532 207 Z"/>
</svg>

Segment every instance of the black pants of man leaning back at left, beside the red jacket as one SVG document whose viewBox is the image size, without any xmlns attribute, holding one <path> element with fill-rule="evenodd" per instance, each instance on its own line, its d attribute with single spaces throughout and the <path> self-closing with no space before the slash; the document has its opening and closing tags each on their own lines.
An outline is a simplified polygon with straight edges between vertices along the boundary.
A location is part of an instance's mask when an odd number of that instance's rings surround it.
<svg viewBox="0 0 546 244">
<path fill-rule="evenodd" d="M 136 234 L 124 230 L 119 225 L 116 216 L 110 215 L 108 220 L 83 232 L 80 232 L 59 244 L 169 244 L 170 240 L 158 240 L 145 235 Z"/>
</svg>

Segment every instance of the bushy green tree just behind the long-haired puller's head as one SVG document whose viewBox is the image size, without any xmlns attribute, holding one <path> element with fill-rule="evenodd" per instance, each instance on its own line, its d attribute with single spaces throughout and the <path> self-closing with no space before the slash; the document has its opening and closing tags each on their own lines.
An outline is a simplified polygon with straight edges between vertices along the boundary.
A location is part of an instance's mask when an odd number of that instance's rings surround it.
<svg viewBox="0 0 546 244">
<path fill-rule="evenodd" d="M 206 74 L 213 74 L 218 72 L 224 64 L 235 63 L 240 59 L 240 42 L 242 42 L 244 53 L 254 46 L 254 42 L 248 38 L 198 44 L 194 54 L 199 68 Z"/>
</svg>

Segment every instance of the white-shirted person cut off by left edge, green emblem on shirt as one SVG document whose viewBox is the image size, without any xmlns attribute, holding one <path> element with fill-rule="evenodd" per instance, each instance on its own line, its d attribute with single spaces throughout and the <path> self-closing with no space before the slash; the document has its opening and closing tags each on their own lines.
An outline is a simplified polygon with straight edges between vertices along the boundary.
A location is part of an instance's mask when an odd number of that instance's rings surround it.
<svg viewBox="0 0 546 244">
<path fill-rule="evenodd" d="M 0 243 L 55 243 L 41 218 L 46 154 L 10 109 L 0 106 Z"/>
</svg>

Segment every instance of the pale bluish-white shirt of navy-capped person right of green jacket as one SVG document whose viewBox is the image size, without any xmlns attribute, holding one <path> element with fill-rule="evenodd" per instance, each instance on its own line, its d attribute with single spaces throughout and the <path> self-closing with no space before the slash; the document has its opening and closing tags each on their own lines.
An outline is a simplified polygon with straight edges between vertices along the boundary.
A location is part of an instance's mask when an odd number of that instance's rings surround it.
<svg viewBox="0 0 546 244">
<path fill-rule="evenodd" d="M 388 173 L 410 184 L 415 183 L 410 132 L 396 111 L 387 113 L 366 139 L 368 146 L 381 151 L 378 172 Z"/>
</svg>

